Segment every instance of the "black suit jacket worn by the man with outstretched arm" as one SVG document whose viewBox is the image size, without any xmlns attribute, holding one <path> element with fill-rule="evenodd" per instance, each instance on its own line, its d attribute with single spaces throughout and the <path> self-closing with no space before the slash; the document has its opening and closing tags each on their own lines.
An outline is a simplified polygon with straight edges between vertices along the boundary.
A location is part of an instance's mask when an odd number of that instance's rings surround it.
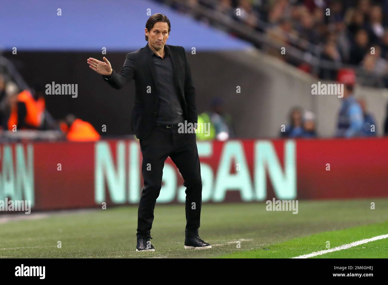
<svg viewBox="0 0 388 285">
<path fill-rule="evenodd" d="M 148 45 L 148 42 L 147 42 Z M 147 45 L 126 55 L 119 73 L 114 70 L 109 78 L 103 78 L 116 89 L 135 79 L 135 104 L 132 107 L 132 131 L 139 139 L 147 138 L 154 127 L 159 107 L 159 91 L 156 69 Z M 175 89 L 187 123 L 197 123 L 195 88 L 191 79 L 189 62 L 184 47 L 167 45 L 173 64 Z M 151 86 L 151 90 L 149 87 Z M 151 91 L 147 93 L 147 90 Z"/>
</svg>

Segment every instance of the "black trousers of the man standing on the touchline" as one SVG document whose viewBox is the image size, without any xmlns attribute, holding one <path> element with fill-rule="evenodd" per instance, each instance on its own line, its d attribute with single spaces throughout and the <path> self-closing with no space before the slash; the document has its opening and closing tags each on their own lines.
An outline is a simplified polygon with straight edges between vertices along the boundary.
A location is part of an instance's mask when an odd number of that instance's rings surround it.
<svg viewBox="0 0 388 285">
<path fill-rule="evenodd" d="M 151 134 L 140 142 L 143 155 L 144 188 L 139 202 L 137 238 L 151 238 L 154 208 L 159 197 L 163 167 L 167 157 L 175 163 L 186 187 L 185 236 L 198 235 L 202 206 L 202 179 L 196 134 L 178 133 L 178 126 L 154 126 Z M 195 203 L 195 204 L 193 204 Z"/>
</svg>

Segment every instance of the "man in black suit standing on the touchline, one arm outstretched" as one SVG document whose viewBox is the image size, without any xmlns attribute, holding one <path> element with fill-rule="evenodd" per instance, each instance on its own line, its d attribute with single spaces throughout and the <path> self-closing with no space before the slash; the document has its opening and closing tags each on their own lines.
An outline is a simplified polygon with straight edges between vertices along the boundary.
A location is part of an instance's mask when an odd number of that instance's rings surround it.
<svg viewBox="0 0 388 285">
<path fill-rule="evenodd" d="M 145 47 L 126 55 L 116 73 L 109 61 L 89 58 L 89 67 L 116 89 L 135 79 L 132 130 L 143 156 L 144 188 L 139 202 L 136 251 L 152 250 L 150 239 L 154 208 L 159 196 L 165 160 L 171 157 L 186 187 L 185 249 L 211 248 L 198 235 L 202 204 L 201 166 L 196 134 L 178 131 L 178 124 L 197 123 L 195 88 L 185 49 L 166 45 L 170 21 L 154 14 L 145 24 Z M 181 130 L 182 128 L 180 128 Z"/>
</svg>

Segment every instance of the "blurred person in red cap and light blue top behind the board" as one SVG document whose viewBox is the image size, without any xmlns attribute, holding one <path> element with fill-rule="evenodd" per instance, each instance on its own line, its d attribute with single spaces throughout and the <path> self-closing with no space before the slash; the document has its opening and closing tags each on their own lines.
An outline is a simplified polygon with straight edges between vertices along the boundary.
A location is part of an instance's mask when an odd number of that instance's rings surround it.
<svg viewBox="0 0 388 285">
<path fill-rule="evenodd" d="M 355 73 L 352 69 L 338 71 L 338 82 L 343 84 L 343 98 L 338 113 L 337 137 L 362 136 L 364 116 L 361 107 L 354 98 Z"/>
</svg>

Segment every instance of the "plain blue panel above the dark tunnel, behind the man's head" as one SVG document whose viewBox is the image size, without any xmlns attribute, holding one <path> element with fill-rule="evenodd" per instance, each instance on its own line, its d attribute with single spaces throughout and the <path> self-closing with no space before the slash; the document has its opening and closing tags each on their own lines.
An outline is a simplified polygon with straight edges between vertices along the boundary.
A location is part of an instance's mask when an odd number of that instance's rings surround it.
<svg viewBox="0 0 388 285">
<path fill-rule="evenodd" d="M 0 47 L 5 50 L 137 50 L 146 43 L 147 9 L 170 19 L 170 45 L 196 47 L 197 52 L 251 47 L 150 0 L 0 0 L 0 7 Z"/>
</svg>

